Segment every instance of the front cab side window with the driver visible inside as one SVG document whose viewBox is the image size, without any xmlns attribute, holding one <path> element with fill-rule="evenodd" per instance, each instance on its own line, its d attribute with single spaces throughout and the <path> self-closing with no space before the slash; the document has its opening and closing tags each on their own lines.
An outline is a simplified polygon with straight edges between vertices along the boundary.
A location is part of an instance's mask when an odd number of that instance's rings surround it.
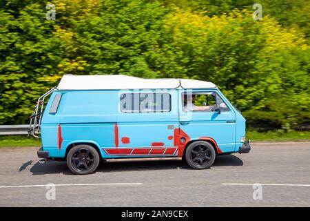
<svg viewBox="0 0 310 221">
<path fill-rule="evenodd" d="M 223 99 L 215 92 L 182 93 L 183 111 L 207 111 L 213 112 L 217 108 L 220 111 L 229 111 Z"/>
</svg>

